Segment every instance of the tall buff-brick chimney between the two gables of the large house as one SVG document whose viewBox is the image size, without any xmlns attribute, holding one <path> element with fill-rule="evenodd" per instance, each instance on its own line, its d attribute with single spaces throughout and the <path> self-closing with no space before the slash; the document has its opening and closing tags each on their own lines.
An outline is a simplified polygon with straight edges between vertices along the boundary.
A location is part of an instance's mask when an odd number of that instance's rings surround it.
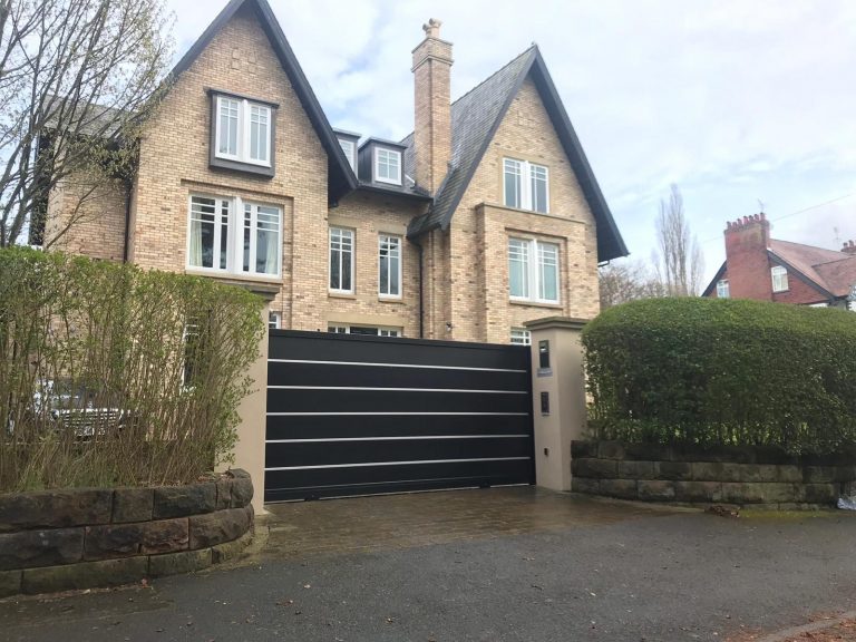
<svg viewBox="0 0 856 642">
<path fill-rule="evenodd" d="M 451 42 L 440 40 L 442 22 L 431 18 L 414 49 L 414 152 L 417 185 L 434 194 L 451 159 Z"/>
</svg>

